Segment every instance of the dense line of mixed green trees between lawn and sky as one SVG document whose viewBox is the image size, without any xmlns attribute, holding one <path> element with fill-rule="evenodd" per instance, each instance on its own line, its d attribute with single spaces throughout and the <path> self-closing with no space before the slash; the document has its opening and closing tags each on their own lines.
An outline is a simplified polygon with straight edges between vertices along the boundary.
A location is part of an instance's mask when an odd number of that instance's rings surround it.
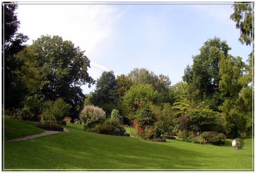
<svg viewBox="0 0 256 173">
<path fill-rule="evenodd" d="M 2 34 L 2 93 L 5 109 L 14 116 L 44 112 L 47 119 L 70 116 L 75 120 L 85 106 L 94 105 L 102 108 L 107 118 L 118 110 L 125 124 L 141 128 L 148 123 L 164 135 L 180 130 L 194 134 L 218 131 L 236 137 L 252 134 L 254 52 L 245 63 L 229 54 L 226 41 L 214 37 L 192 56 L 193 64 L 186 66 L 183 81 L 172 86 L 169 76 L 158 76 L 145 68 L 118 76 L 114 71 L 104 71 L 95 81 L 87 72 L 90 60 L 85 51 L 71 41 L 46 35 L 33 40 L 32 45 L 23 45 L 28 36 L 17 33 L 16 8 L 15 3 L 2 3 L 2 14 L 13 16 L 2 23 L 5 31 L 10 31 Z M 250 45 L 254 40 L 248 19 L 251 5 L 236 4 L 233 8 L 230 18 L 241 29 L 239 41 Z M 81 85 L 93 84 L 95 90 L 83 94 Z M 146 116 L 151 116 L 148 121 Z"/>
</svg>

